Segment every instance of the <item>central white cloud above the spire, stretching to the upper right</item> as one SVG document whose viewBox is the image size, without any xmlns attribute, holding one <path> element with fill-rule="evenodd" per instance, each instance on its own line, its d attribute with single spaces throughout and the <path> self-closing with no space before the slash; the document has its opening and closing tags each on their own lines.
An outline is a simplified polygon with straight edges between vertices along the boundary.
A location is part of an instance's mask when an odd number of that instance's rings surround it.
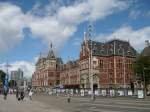
<svg viewBox="0 0 150 112">
<path fill-rule="evenodd" d="M 55 14 L 47 10 L 51 9 L 50 7 L 54 7 L 54 4 L 46 5 L 44 9 L 41 9 L 47 12 L 44 17 L 35 15 L 35 9 L 34 13 L 31 11 L 28 14 L 30 16 L 28 26 L 32 34 L 35 35 L 34 37 L 42 38 L 48 44 L 53 42 L 55 50 L 59 52 L 67 40 L 76 32 L 77 25 L 87 20 L 102 19 L 112 14 L 116 9 L 119 11 L 127 8 L 127 4 L 118 0 L 93 0 L 92 2 L 88 0 L 76 2 L 70 6 L 57 5 Z"/>
</svg>

